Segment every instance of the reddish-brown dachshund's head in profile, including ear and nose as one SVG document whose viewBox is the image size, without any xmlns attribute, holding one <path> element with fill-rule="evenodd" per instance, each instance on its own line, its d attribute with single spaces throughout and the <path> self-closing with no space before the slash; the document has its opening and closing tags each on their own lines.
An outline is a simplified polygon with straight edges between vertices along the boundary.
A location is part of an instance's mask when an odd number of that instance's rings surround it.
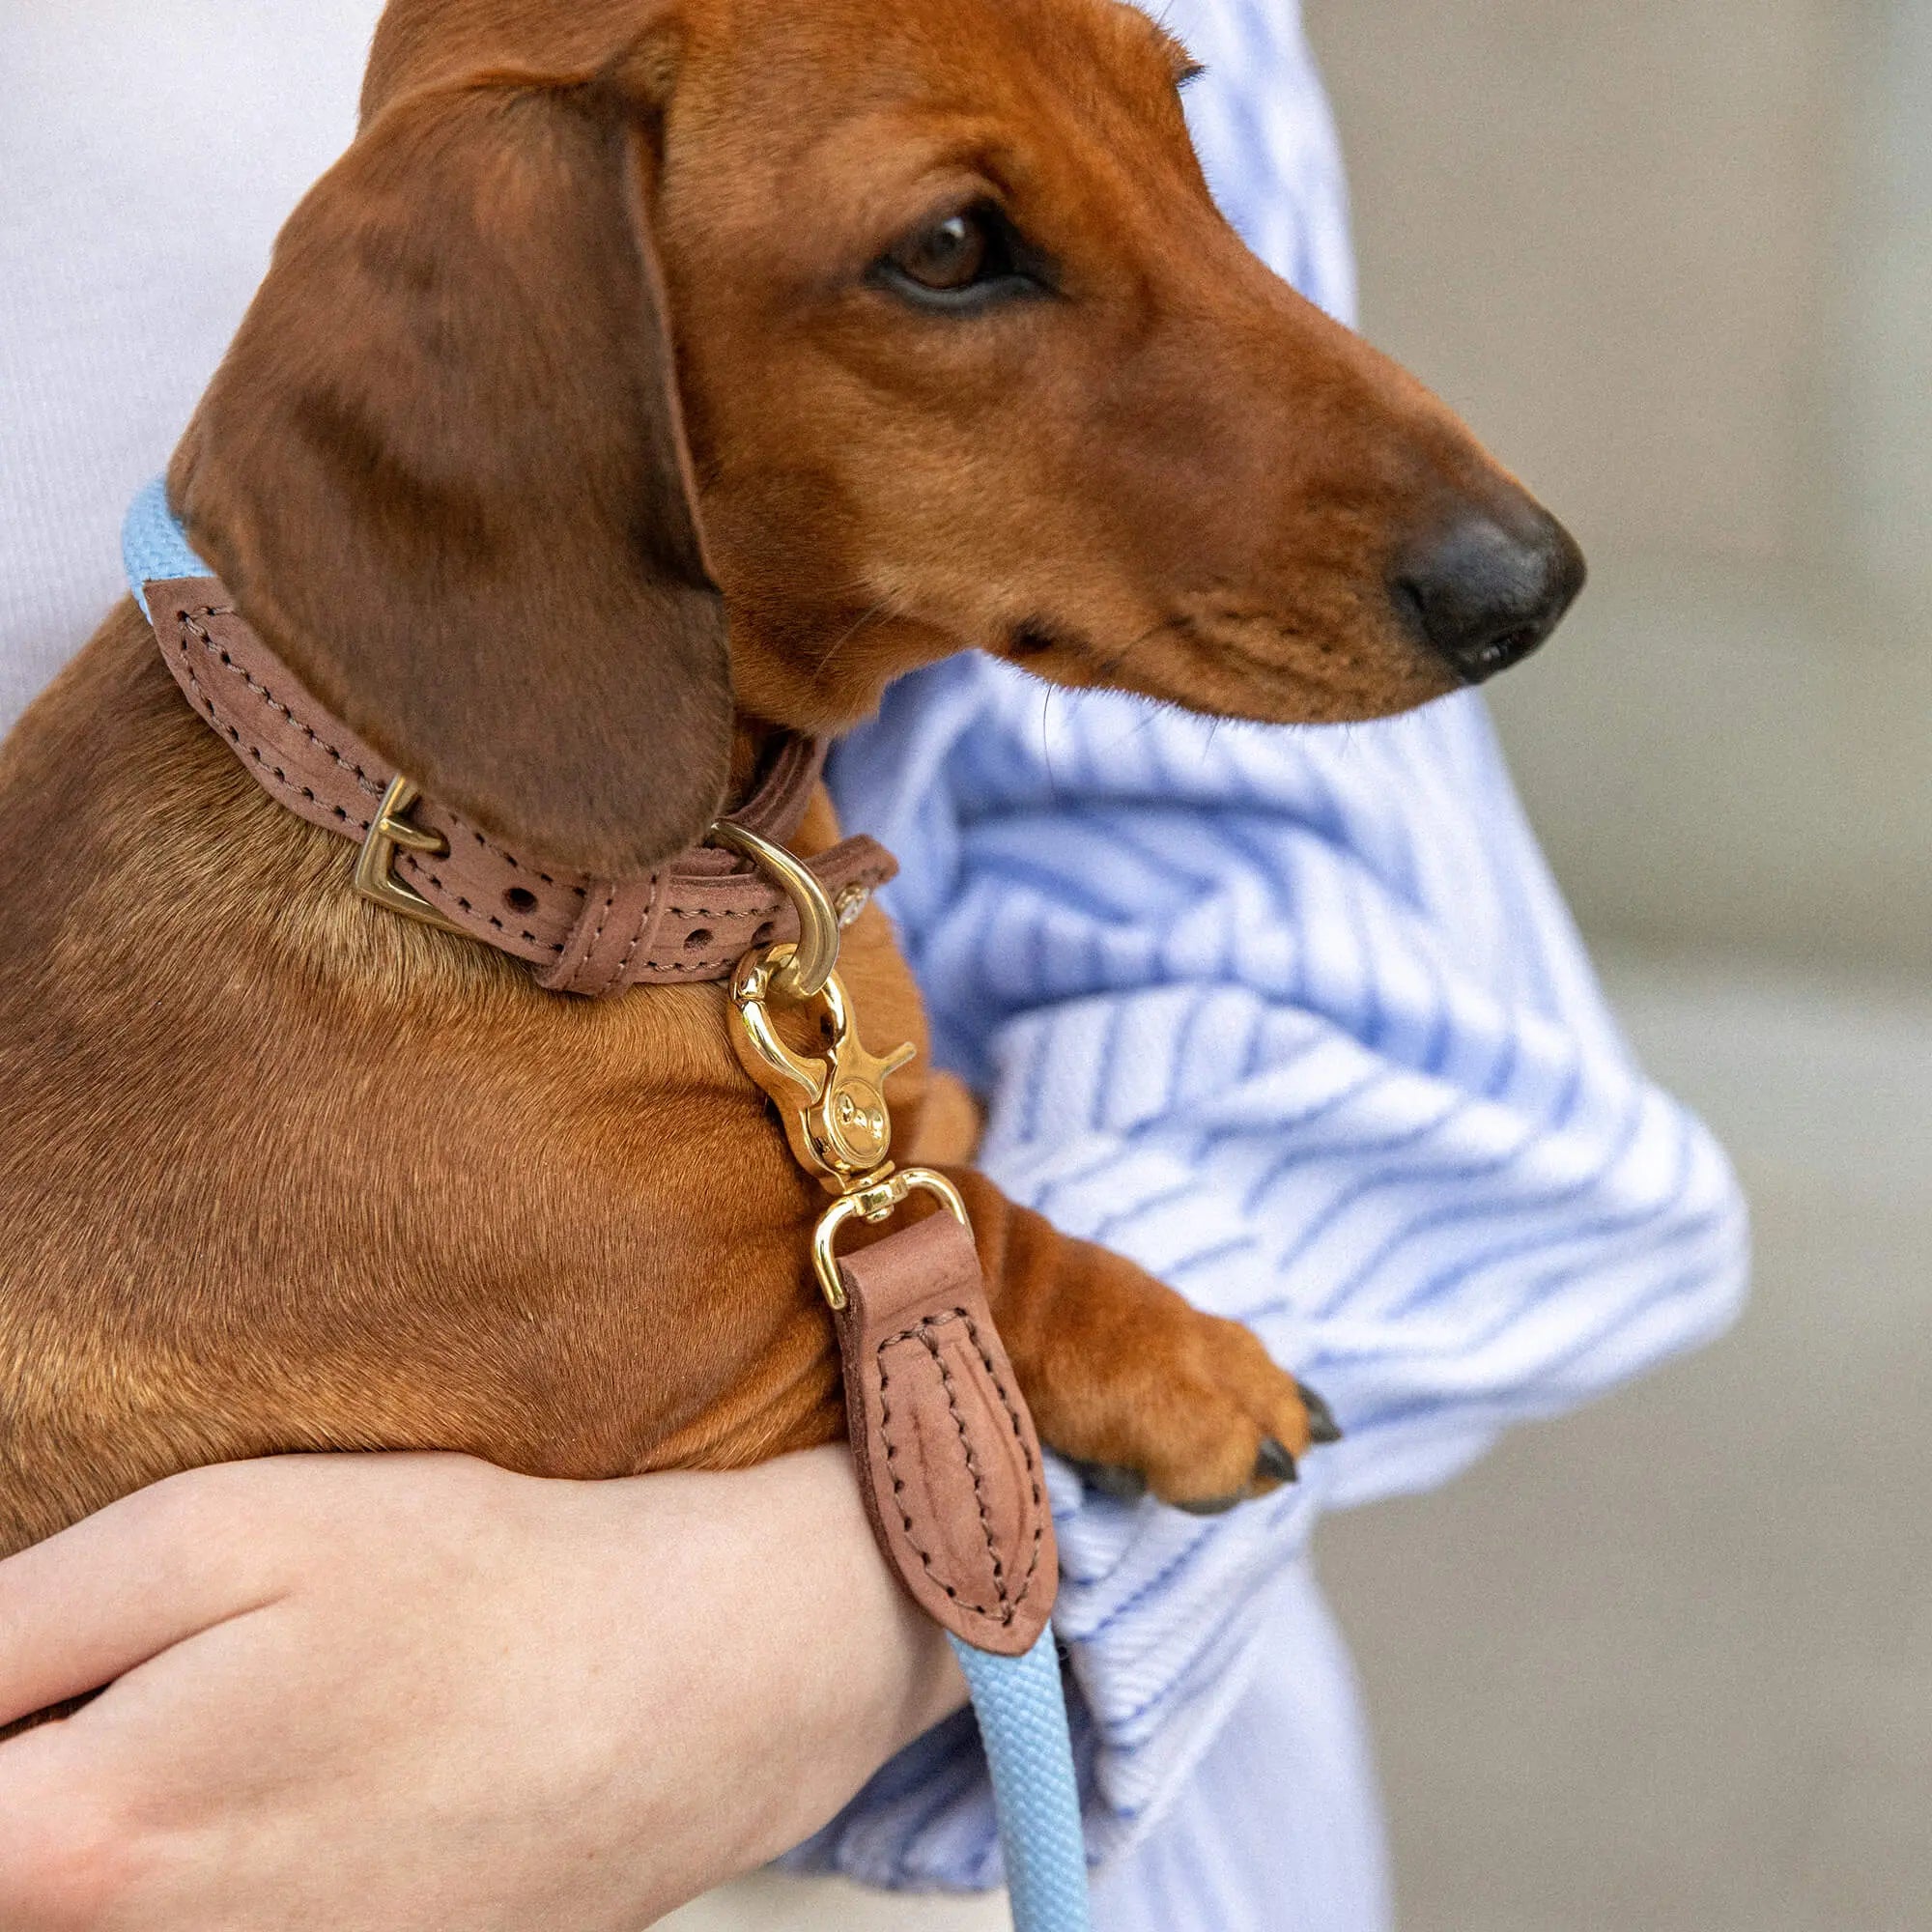
<svg viewBox="0 0 1932 1932">
<path fill-rule="evenodd" d="M 734 703 L 968 645 L 1283 723 L 1517 661 L 1575 545 L 1242 247 L 1186 77 L 1119 0 L 392 0 L 176 504 L 352 726 L 607 875 Z"/>
</svg>

